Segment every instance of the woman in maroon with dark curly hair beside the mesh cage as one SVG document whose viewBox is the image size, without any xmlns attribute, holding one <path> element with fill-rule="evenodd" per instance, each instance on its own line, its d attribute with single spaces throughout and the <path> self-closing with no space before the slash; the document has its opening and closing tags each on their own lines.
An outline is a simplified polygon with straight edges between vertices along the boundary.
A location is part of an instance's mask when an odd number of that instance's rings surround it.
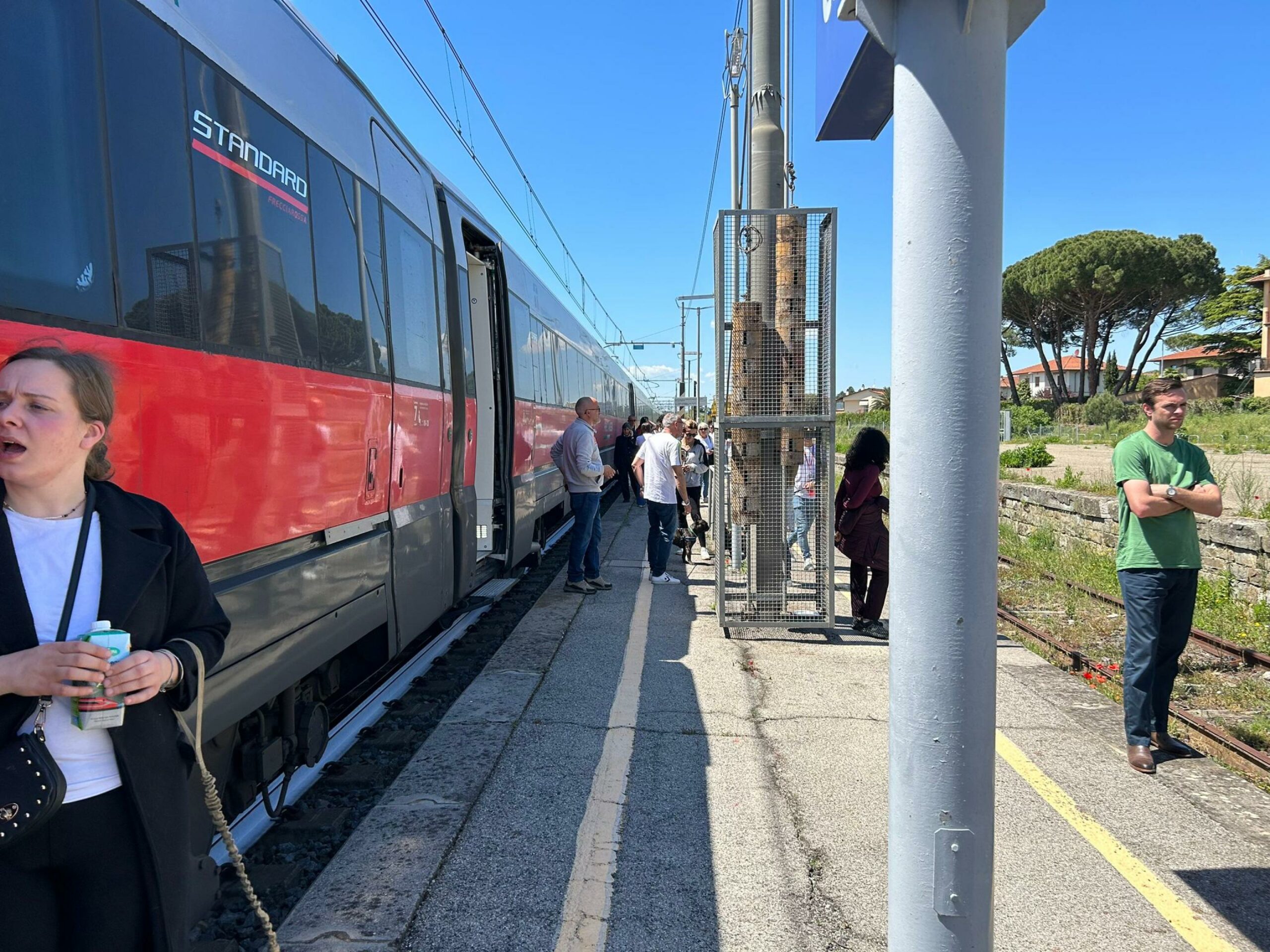
<svg viewBox="0 0 1270 952">
<path fill-rule="evenodd" d="M 889 458 L 885 433 L 865 426 L 856 434 L 833 519 L 834 545 L 851 560 L 851 627 L 881 638 L 886 637 L 881 607 L 890 581 L 890 533 L 881 518 L 890 512 L 890 500 L 881 494 L 881 472 Z"/>
</svg>

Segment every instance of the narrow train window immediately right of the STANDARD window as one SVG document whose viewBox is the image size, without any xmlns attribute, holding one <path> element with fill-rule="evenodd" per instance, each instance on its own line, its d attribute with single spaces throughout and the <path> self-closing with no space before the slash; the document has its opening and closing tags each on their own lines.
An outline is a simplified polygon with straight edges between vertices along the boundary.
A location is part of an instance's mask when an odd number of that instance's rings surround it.
<svg viewBox="0 0 1270 952">
<path fill-rule="evenodd" d="M 309 147 L 309 173 L 312 175 L 321 366 L 330 371 L 368 371 L 370 339 L 362 314 L 362 281 L 357 267 L 353 176 L 314 146 Z"/>
</svg>

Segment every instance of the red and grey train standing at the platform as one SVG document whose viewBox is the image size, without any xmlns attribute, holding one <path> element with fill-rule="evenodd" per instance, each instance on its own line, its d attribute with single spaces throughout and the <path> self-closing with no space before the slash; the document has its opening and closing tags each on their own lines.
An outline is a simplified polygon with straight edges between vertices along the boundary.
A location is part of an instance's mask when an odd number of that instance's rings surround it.
<svg viewBox="0 0 1270 952">
<path fill-rule="evenodd" d="M 573 401 L 607 458 L 650 400 L 286 0 L 0 4 L 0 354 L 117 368 L 116 479 L 234 622 L 237 812 L 536 553 Z"/>
</svg>

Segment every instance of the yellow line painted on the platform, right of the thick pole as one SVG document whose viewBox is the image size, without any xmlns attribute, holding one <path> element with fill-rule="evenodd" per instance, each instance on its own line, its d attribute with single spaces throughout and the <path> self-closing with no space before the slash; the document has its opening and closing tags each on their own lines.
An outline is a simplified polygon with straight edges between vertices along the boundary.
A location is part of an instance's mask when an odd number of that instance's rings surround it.
<svg viewBox="0 0 1270 952">
<path fill-rule="evenodd" d="M 1076 801 L 999 730 L 997 731 L 997 754 L 1013 767 L 1015 772 L 1027 781 L 1059 816 L 1085 836 L 1102 854 L 1102 858 L 1111 863 L 1115 871 L 1156 908 L 1157 913 L 1165 916 L 1165 920 L 1173 927 L 1179 935 L 1186 939 L 1191 948 L 1196 952 L 1238 952 L 1234 946 L 1213 932 L 1194 909 L 1161 882 L 1102 824 L 1076 806 Z"/>
</svg>

